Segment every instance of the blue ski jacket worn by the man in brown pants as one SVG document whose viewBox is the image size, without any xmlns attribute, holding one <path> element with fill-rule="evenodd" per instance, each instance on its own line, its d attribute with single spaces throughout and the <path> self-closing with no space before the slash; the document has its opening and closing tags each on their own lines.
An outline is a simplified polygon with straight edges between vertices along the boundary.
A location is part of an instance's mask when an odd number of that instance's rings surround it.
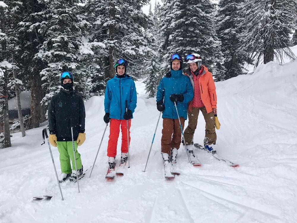
<svg viewBox="0 0 297 223">
<path fill-rule="evenodd" d="M 172 94 L 183 94 L 184 100 L 177 102 L 177 110 L 179 117 L 187 120 L 188 102 L 193 99 L 194 92 L 190 79 L 183 75 L 182 70 L 171 70 L 159 83 L 157 89 L 157 102 L 163 101 L 165 110 L 162 118 L 178 119 L 174 102 L 170 100 Z"/>
</svg>

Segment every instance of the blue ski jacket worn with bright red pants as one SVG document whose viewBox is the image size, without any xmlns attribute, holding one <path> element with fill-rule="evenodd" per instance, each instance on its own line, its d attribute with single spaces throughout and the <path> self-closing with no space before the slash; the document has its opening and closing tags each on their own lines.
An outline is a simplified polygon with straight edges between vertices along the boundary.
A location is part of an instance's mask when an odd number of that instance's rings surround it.
<svg viewBox="0 0 297 223">
<path fill-rule="evenodd" d="M 135 83 L 127 74 L 124 76 L 116 75 L 107 81 L 106 84 L 104 96 L 105 113 L 109 113 L 110 118 L 123 120 L 126 112 L 126 100 L 128 110 L 131 110 L 133 113 L 137 103 Z"/>
</svg>

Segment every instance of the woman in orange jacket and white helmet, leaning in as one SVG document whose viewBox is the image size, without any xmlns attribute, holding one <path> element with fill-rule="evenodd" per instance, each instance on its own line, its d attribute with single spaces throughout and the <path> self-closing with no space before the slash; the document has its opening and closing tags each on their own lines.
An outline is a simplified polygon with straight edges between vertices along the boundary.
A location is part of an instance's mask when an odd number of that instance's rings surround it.
<svg viewBox="0 0 297 223">
<path fill-rule="evenodd" d="M 208 152 L 214 152 L 213 145 L 216 144 L 217 134 L 215 131 L 214 114 L 217 114 L 216 86 L 211 72 L 202 65 L 199 54 L 186 56 L 189 68 L 185 71 L 194 89 L 194 98 L 188 104 L 188 127 L 184 131 L 185 144 L 189 151 L 193 150 L 193 136 L 197 127 L 199 111 L 205 120 L 204 147 Z"/>
</svg>

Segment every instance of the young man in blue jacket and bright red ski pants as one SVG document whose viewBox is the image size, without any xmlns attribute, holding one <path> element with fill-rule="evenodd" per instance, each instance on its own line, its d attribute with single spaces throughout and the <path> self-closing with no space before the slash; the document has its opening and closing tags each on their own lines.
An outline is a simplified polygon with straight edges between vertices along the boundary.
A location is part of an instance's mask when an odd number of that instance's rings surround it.
<svg viewBox="0 0 297 223">
<path fill-rule="evenodd" d="M 120 133 L 122 132 L 121 145 L 121 163 L 128 159 L 128 141 L 127 141 L 127 120 L 128 134 L 130 144 L 130 126 L 133 112 L 136 108 L 137 96 L 135 83 L 130 76 L 126 74 L 127 61 L 119 59 L 115 62 L 114 68 L 116 75 L 107 81 L 104 98 L 104 122 L 110 122 L 110 134 L 107 147 L 107 156 L 109 168 L 115 166 L 116 147 Z M 126 111 L 127 101 L 127 111 Z"/>
</svg>

